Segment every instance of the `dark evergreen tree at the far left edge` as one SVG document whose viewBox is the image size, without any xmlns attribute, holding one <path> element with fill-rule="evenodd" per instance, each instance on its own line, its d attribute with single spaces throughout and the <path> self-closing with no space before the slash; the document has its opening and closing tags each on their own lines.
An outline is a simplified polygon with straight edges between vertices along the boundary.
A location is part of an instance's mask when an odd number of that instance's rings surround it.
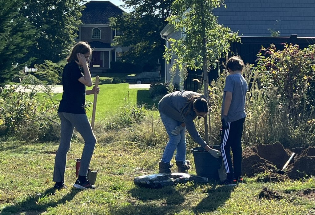
<svg viewBox="0 0 315 215">
<path fill-rule="evenodd" d="M 22 0 L 0 0 L 0 86 L 32 59 L 28 50 L 37 32 L 28 19 L 19 14 L 22 3 Z"/>
</svg>

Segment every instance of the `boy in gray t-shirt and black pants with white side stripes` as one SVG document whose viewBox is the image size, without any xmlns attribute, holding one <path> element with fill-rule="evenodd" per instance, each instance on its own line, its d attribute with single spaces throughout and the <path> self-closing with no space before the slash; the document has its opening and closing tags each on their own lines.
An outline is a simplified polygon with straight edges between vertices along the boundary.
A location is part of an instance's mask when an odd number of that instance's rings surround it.
<svg viewBox="0 0 315 215">
<path fill-rule="evenodd" d="M 222 139 L 221 153 L 227 177 L 222 184 L 236 184 L 243 182 L 242 169 L 242 144 L 243 124 L 245 121 L 245 98 L 247 83 L 241 75 L 243 60 L 233 56 L 226 62 L 226 69 L 230 75 L 226 77 L 222 102 Z M 233 154 L 233 166 L 230 150 Z"/>
</svg>

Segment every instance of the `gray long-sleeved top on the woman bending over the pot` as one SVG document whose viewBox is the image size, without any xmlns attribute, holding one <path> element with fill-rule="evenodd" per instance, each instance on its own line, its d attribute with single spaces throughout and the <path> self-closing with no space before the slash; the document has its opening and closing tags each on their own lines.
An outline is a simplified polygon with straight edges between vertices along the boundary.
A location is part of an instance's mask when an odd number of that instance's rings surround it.
<svg viewBox="0 0 315 215">
<path fill-rule="evenodd" d="M 206 142 L 201 138 L 193 122 L 197 115 L 192 106 L 188 110 L 189 104 L 187 101 L 195 95 L 206 99 L 202 94 L 193 91 L 175 91 L 166 94 L 158 103 L 158 110 L 178 122 L 184 122 L 192 139 L 202 147 L 205 147 Z"/>
</svg>

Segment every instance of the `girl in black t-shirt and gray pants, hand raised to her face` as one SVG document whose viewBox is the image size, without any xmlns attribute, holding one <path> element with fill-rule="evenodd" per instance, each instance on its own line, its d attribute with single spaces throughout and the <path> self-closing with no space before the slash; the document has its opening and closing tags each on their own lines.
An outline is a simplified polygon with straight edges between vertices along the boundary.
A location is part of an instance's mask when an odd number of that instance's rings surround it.
<svg viewBox="0 0 315 215">
<path fill-rule="evenodd" d="M 74 128 L 84 139 L 84 148 L 81 156 L 79 176 L 73 185 L 77 189 L 94 189 L 87 179 L 90 161 L 94 152 L 96 138 L 88 117 L 84 110 L 85 95 L 99 93 L 100 89 L 93 87 L 85 90 L 85 86 L 93 85 L 88 62 L 92 49 L 87 42 L 78 42 L 67 58 L 67 64 L 62 73 L 63 94 L 60 100 L 58 115 L 61 121 L 60 145 L 55 157 L 54 165 L 54 190 L 66 188 L 64 174 L 66 169 L 66 157 Z M 84 75 L 82 74 L 84 73 Z"/>
</svg>

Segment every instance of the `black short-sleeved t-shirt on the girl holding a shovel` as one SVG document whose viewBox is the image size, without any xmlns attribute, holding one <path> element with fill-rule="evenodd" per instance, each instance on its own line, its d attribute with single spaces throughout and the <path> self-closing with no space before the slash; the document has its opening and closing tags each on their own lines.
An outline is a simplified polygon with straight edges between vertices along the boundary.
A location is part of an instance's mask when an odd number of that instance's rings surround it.
<svg viewBox="0 0 315 215">
<path fill-rule="evenodd" d="M 85 114 L 85 85 L 78 81 L 82 76 L 75 61 L 66 64 L 62 73 L 63 94 L 58 113 Z"/>
</svg>

